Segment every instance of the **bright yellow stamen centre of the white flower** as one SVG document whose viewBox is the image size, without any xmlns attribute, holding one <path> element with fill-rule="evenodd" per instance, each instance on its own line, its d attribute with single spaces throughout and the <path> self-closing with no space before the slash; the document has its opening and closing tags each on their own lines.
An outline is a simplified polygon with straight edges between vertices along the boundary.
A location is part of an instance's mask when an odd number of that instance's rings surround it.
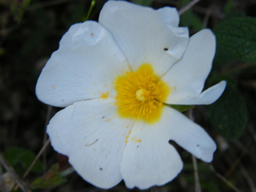
<svg viewBox="0 0 256 192">
<path fill-rule="evenodd" d="M 115 88 L 119 115 L 150 124 L 160 119 L 163 102 L 170 93 L 169 86 L 148 63 L 142 64 L 135 72 L 118 76 Z"/>
</svg>

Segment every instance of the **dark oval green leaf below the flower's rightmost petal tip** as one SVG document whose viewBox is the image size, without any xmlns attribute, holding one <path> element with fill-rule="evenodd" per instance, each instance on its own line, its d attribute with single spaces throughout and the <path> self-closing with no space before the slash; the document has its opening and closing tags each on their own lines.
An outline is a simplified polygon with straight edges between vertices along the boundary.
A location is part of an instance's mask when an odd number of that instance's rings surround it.
<svg viewBox="0 0 256 192">
<path fill-rule="evenodd" d="M 213 127 L 227 139 L 237 139 L 247 123 L 247 110 L 243 97 L 227 84 L 220 99 L 205 106 Z"/>
</svg>

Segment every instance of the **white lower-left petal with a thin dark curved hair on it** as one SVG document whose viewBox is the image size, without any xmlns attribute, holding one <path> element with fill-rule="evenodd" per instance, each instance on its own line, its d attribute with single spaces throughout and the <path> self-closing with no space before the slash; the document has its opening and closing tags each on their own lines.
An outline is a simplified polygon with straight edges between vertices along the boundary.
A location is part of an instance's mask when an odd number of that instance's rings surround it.
<svg viewBox="0 0 256 192">
<path fill-rule="evenodd" d="M 116 115 L 113 98 L 76 102 L 59 111 L 47 126 L 53 148 L 68 155 L 84 180 L 111 188 L 122 180 L 120 163 L 130 127 Z"/>
</svg>

